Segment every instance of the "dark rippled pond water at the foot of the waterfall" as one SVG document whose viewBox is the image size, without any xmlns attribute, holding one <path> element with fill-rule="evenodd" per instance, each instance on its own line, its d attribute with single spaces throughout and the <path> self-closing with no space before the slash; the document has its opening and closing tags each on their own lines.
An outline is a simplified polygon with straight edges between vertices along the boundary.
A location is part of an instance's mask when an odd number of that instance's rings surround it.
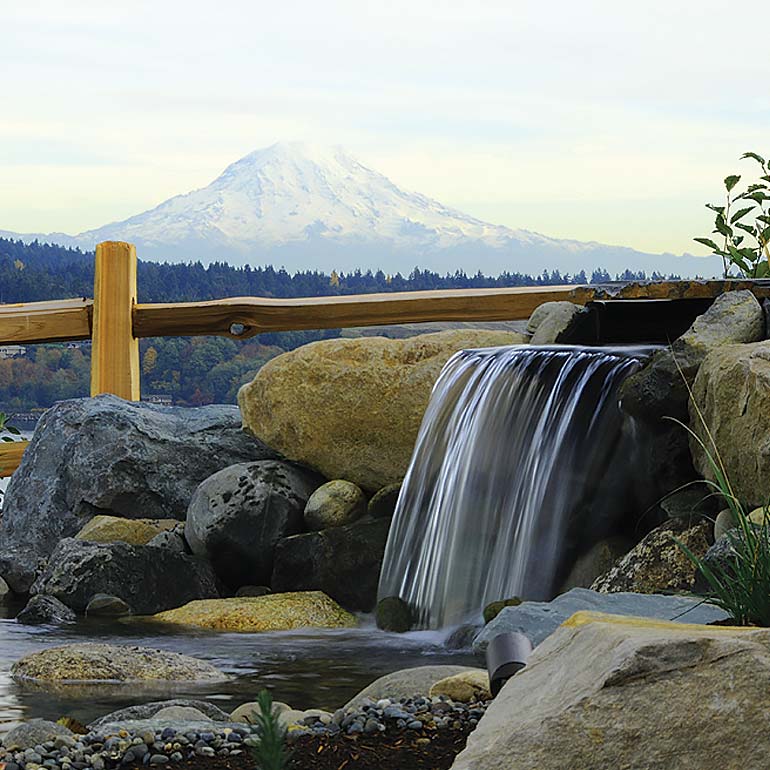
<svg viewBox="0 0 770 770">
<path fill-rule="evenodd" d="M 159 633 L 139 621 L 81 619 L 71 626 L 25 626 L 13 619 L 18 608 L 0 618 L 0 732 L 20 720 L 74 717 L 87 724 L 125 706 L 174 697 L 204 698 L 225 711 L 269 689 L 276 700 L 295 708 L 343 706 L 383 674 L 412 666 L 479 665 L 466 652 L 444 648 L 448 632 L 389 634 L 377 630 L 371 616 L 358 629 L 306 629 L 268 634 L 223 634 L 169 629 Z M 13 663 L 44 647 L 75 642 L 141 645 L 207 660 L 231 676 L 224 683 L 162 687 L 136 684 L 40 689 L 10 676 Z M 481 664 L 483 665 L 483 663 Z"/>
</svg>

